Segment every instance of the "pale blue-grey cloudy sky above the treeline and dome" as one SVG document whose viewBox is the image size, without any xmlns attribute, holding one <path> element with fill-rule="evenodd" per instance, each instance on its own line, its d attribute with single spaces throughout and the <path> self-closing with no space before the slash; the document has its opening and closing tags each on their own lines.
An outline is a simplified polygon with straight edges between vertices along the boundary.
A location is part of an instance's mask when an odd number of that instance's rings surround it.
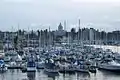
<svg viewBox="0 0 120 80">
<path fill-rule="evenodd" d="M 0 30 L 72 27 L 120 30 L 120 0 L 0 0 Z"/>
</svg>

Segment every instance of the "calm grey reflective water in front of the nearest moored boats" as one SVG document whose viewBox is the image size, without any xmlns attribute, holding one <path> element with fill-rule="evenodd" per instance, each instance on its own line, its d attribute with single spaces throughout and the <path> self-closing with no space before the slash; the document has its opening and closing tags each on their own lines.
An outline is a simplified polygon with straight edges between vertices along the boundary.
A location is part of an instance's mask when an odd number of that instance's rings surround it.
<svg viewBox="0 0 120 80">
<path fill-rule="evenodd" d="M 0 73 L 0 80 L 120 80 L 120 74 L 97 71 L 96 74 L 74 73 L 55 76 L 51 73 L 45 73 L 39 70 L 35 73 L 22 73 L 20 70 L 8 70 L 6 73 Z"/>
</svg>

